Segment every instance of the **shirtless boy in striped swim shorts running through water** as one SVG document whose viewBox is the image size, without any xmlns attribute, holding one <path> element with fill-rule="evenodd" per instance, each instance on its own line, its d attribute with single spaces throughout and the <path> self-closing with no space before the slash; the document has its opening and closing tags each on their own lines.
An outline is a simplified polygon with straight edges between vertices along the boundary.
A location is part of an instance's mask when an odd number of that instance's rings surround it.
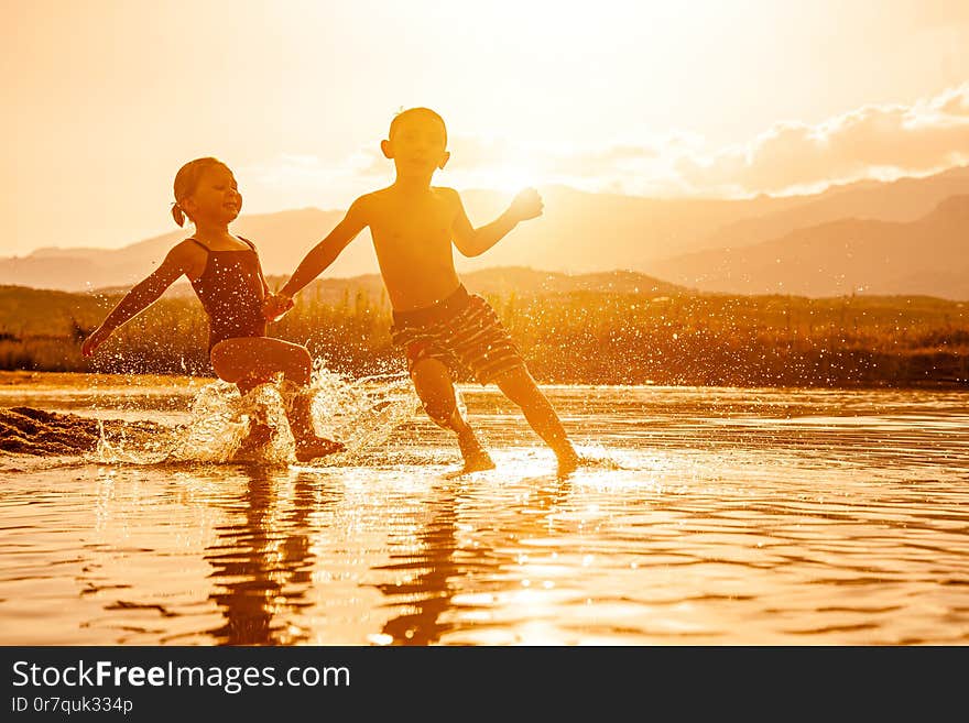
<svg viewBox="0 0 969 723">
<path fill-rule="evenodd" d="M 370 227 L 380 272 L 393 307 L 391 336 L 404 348 L 417 396 L 435 424 L 457 435 L 465 472 L 492 469 L 455 402 L 448 364 L 459 361 L 481 383 L 494 382 L 558 458 L 558 473 L 571 473 L 578 456 L 562 421 L 541 392 L 508 331 L 488 303 L 468 294 L 454 267 L 451 244 L 466 256 L 493 247 L 520 221 L 542 213 L 537 191 L 520 193 L 498 219 L 472 228 L 458 193 L 431 185 L 444 168 L 447 129 L 428 108 L 411 108 L 390 124 L 380 144 L 394 163 L 394 183 L 355 200 L 264 307 L 268 318 L 292 308 L 293 295 L 329 266 L 364 227 Z"/>
</svg>

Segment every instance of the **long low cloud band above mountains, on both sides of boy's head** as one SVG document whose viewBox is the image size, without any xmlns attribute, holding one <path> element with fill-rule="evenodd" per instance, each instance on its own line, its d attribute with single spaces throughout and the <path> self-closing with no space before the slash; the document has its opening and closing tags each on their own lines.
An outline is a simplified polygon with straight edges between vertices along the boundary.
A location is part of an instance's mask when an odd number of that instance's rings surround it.
<svg viewBox="0 0 969 723">
<path fill-rule="evenodd" d="M 675 133 L 596 147 L 525 147 L 503 138 L 455 135 L 449 150 L 451 160 L 436 182 L 456 188 L 563 184 L 652 197 L 804 193 L 969 163 L 969 83 L 907 106 L 863 106 L 816 124 L 779 122 L 723 149 Z M 368 146 L 336 161 L 279 156 L 244 177 L 263 208 L 345 207 L 392 180 L 393 167 Z"/>
</svg>

